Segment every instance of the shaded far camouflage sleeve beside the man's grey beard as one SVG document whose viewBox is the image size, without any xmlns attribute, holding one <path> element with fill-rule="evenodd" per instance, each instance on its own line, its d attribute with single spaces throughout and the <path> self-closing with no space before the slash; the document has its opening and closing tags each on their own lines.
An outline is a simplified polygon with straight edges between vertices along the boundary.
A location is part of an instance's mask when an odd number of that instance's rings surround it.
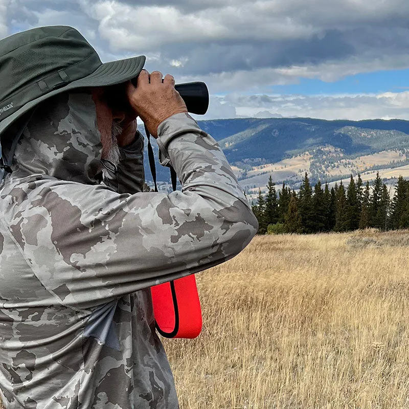
<svg viewBox="0 0 409 409">
<path fill-rule="evenodd" d="M 120 148 L 121 161 L 112 171 L 107 168 L 107 177 L 103 183 L 118 193 L 138 193 L 143 191 L 144 172 L 144 137 L 140 131 L 128 146 Z"/>
</svg>

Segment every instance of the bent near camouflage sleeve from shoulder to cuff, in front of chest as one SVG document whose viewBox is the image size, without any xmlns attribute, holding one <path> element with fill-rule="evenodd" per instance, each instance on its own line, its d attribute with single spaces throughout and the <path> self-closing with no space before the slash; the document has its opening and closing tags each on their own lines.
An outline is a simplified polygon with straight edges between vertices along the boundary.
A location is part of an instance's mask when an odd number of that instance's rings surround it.
<svg viewBox="0 0 409 409">
<path fill-rule="evenodd" d="M 216 141 L 185 114 L 158 130 L 161 161 L 181 191 L 117 193 L 41 179 L 15 188 L 10 231 L 59 303 L 77 310 L 220 264 L 257 232 L 257 219 Z"/>
</svg>

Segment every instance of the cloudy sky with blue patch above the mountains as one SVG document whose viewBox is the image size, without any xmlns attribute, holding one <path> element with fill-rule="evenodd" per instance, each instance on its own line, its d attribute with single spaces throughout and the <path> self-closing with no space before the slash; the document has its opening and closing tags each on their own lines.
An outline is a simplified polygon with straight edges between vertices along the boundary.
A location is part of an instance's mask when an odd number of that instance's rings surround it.
<svg viewBox="0 0 409 409">
<path fill-rule="evenodd" d="M 407 0 L 0 0 L 0 38 L 72 26 L 104 62 L 206 82 L 201 119 L 409 120 L 408 21 Z"/>
</svg>

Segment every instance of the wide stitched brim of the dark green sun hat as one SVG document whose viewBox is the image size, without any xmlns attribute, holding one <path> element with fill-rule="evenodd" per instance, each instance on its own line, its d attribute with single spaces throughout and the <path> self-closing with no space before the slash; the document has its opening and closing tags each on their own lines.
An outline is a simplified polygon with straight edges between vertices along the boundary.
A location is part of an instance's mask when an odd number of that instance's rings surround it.
<svg viewBox="0 0 409 409">
<path fill-rule="evenodd" d="M 28 102 L 18 111 L 10 115 L 10 117 L 7 117 L 0 122 L 0 136 L 10 125 L 13 124 L 13 122 L 23 116 L 26 112 L 30 111 L 41 102 L 54 97 L 55 95 L 77 88 L 117 85 L 138 77 L 139 73 L 143 69 L 145 60 L 146 57 L 142 55 L 139 57 L 127 58 L 124 60 L 105 62 L 101 64 L 98 69 L 95 70 L 92 74 L 79 80 L 70 82 L 64 87 L 55 89 L 46 95 L 42 95 L 41 97 Z"/>
</svg>

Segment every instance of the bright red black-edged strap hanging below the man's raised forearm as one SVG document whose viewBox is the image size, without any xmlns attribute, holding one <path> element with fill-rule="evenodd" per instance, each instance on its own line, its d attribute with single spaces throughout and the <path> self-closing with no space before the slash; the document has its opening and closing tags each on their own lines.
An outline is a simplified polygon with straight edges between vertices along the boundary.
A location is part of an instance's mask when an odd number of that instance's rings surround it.
<svg viewBox="0 0 409 409">
<path fill-rule="evenodd" d="M 166 338 L 196 338 L 202 318 L 194 274 L 151 287 L 157 331 Z"/>
</svg>

